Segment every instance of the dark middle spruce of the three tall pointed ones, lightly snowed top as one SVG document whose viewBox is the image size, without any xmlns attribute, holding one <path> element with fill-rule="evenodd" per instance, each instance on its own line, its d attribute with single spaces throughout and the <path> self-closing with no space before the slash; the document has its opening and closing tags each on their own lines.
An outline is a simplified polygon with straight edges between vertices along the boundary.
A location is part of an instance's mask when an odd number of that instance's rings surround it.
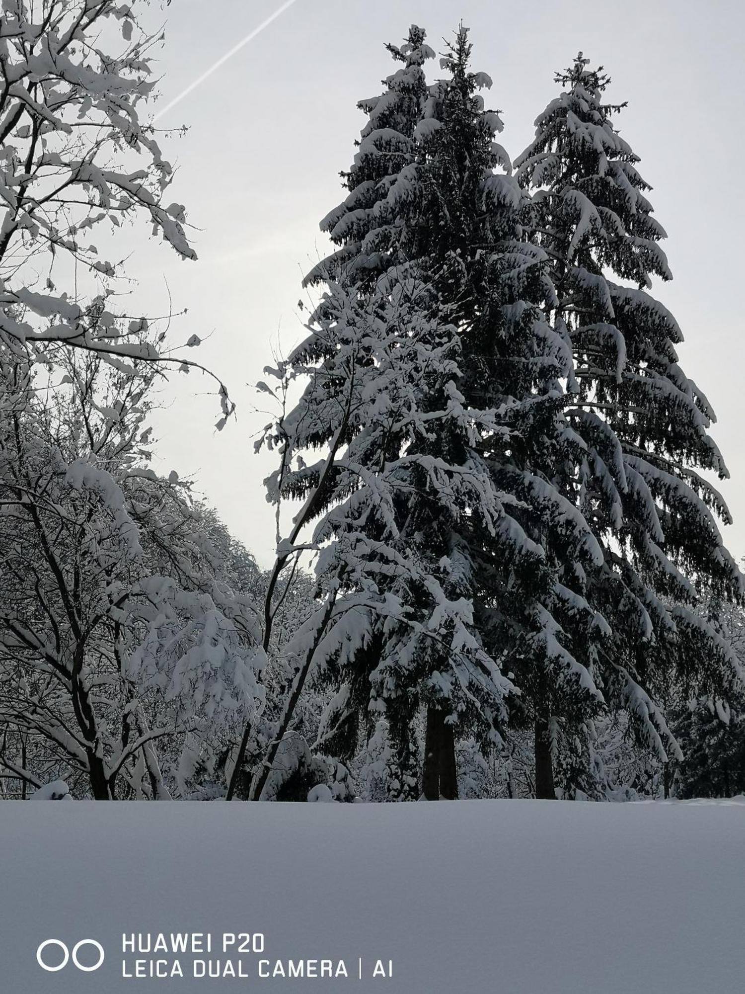
<svg viewBox="0 0 745 994">
<path fill-rule="evenodd" d="M 601 561 L 581 514 L 563 493 L 571 491 L 565 465 L 581 457 L 561 415 L 561 381 L 571 372 L 571 356 L 537 306 L 545 294 L 544 256 L 520 240 L 524 198 L 518 184 L 495 174 L 497 166 L 509 167 L 509 159 L 495 141 L 499 116 L 479 93 L 491 81 L 470 71 L 470 52 L 461 28 L 442 61 L 449 77 L 428 87 L 411 138 L 404 136 L 407 160 L 394 175 L 388 167 L 370 193 L 375 199 L 364 215 L 364 240 L 356 235 L 361 216 L 354 200 L 332 212 L 332 238 L 342 248 L 328 265 L 334 271 L 340 257 L 349 260 L 355 251 L 355 272 L 415 260 L 436 293 L 429 317 L 458 327 L 458 389 L 467 410 L 494 414 L 494 427 L 480 430 L 475 447 L 501 502 L 494 533 L 470 528 L 467 514 L 458 522 L 464 594 L 494 658 L 509 668 L 522 663 L 525 680 L 555 685 L 588 715 L 599 703 L 591 670 L 606 627 L 580 591 L 557 580 L 553 566 L 571 561 L 581 570 L 583 563 Z M 374 147 L 370 124 L 363 133 Z M 309 278 L 323 272 L 321 263 Z M 426 676 L 419 696 L 430 705 L 425 793 L 437 796 L 434 784 L 450 781 L 455 768 L 447 726 L 460 722 L 468 731 L 473 716 L 460 712 L 448 689 Z M 430 760 L 434 769 L 427 768 Z"/>
</svg>

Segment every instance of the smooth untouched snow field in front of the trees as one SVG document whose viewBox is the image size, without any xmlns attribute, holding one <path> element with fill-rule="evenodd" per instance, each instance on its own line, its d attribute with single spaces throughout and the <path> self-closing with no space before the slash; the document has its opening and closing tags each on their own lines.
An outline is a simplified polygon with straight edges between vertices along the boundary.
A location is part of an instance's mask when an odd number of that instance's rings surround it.
<svg viewBox="0 0 745 994">
<path fill-rule="evenodd" d="M 0 845 L 9 994 L 745 989 L 742 799 L 3 802 Z M 213 950 L 122 952 L 123 934 L 155 942 L 159 932 L 168 942 L 171 932 L 210 932 Z M 225 932 L 262 932 L 264 952 L 225 956 Z M 96 939 L 105 960 L 93 972 L 72 958 L 45 971 L 36 952 L 48 938 L 71 951 Z M 57 965 L 63 951 L 45 957 Z M 78 950 L 82 965 L 96 958 L 89 945 Z M 169 969 L 179 960 L 184 977 L 122 975 L 157 958 Z M 247 976 L 195 979 L 196 960 L 224 970 L 226 958 Z M 322 959 L 335 971 L 344 960 L 349 976 L 309 977 Z M 377 959 L 386 971 L 392 961 L 391 977 L 373 979 Z M 277 960 L 286 972 L 304 961 L 304 977 L 261 977 Z"/>
</svg>

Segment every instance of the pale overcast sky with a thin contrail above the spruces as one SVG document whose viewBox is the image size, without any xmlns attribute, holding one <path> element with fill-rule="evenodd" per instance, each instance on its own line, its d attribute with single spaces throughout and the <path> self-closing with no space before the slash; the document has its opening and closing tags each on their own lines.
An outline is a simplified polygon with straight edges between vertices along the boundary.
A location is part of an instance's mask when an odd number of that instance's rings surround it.
<svg viewBox="0 0 745 994">
<path fill-rule="evenodd" d="M 281 0 L 175 0 L 160 57 L 161 105 L 176 97 L 281 6 Z M 381 91 L 391 72 L 385 42 L 413 22 L 442 49 L 459 19 L 471 28 L 474 68 L 494 87 L 502 141 L 516 158 L 532 121 L 558 92 L 553 72 L 578 50 L 613 78 L 628 100 L 622 133 L 641 156 L 650 199 L 666 228 L 674 280 L 654 291 L 676 316 L 681 366 L 718 414 L 714 437 L 729 464 L 721 485 L 735 523 L 730 550 L 745 553 L 742 373 L 743 198 L 740 194 L 745 13 L 712 0 L 296 0 L 214 76 L 169 110 L 159 126 L 188 125 L 164 138 L 179 166 L 169 199 L 187 206 L 197 262 L 156 241 L 138 243 L 131 271 L 143 313 L 189 313 L 173 327 L 186 341 L 213 332 L 199 350 L 227 383 L 238 417 L 214 430 L 215 399 L 194 376 L 163 392 L 158 468 L 192 475 L 231 532 L 262 565 L 272 559 L 272 512 L 262 479 L 271 456 L 253 454 L 268 417 L 250 385 L 279 346 L 302 334 L 300 280 L 326 251 L 319 220 L 340 202 L 339 171 L 365 122 L 356 103 Z M 436 72 L 434 63 L 429 73 Z"/>
</svg>

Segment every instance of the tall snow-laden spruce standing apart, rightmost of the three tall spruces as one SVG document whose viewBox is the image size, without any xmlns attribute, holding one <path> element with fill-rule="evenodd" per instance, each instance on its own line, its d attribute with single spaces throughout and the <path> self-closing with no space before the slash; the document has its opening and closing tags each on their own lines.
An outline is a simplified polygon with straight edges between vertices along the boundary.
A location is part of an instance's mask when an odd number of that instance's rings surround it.
<svg viewBox="0 0 745 994">
<path fill-rule="evenodd" d="M 678 325 L 648 292 L 653 276 L 671 278 L 665 232 L 614 126 L 621 106 L 605 102 L 610 81 L 580 53 L 556 82 L 516 175 L 534 190 L 528 238 L 548 261 L 547 317 L 572 354 L 565 414 L 585 446 L 577 506 L 603 549 L 599 570 L 564 573 L 613 632 L 598 669 L 608 707 L 627 709 L 665 761 L 679 757 L 660 708 L 671 673 L 721 694 L 739 671 L 692 609 L 706 592 L 741 593 L 717 526 L 729 513 L 700 472 L 727 470 L 707 431 L 711 407 L 677 365 Z"/>
</svg>

